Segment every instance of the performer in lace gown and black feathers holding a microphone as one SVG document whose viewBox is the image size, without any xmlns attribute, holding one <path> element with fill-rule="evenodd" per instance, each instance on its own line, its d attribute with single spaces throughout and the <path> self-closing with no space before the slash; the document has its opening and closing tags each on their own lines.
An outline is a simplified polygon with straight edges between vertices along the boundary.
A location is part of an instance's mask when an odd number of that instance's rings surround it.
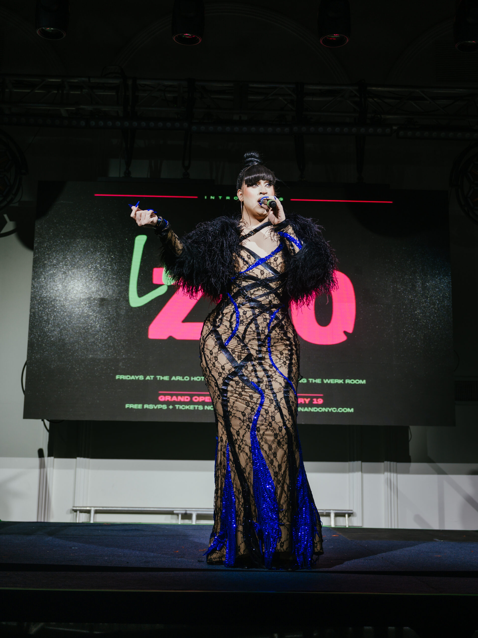
<svg viewBox="0 0 478 638">
<path fill-rule="evenodd" d="M 241 215 L 182 239 L 154 211 L 131 213 L 156 228 L 168 276 L 217 301 L 199 346 L 217 422 L 210 565 L 310 568 L 322 554 L 296 426 L 299 341 L 288 307 L 331 291 L 335 257 L 312 219 L 284 213 L 275 181 L 257 153 L 245 154 Z"/>
</svg>

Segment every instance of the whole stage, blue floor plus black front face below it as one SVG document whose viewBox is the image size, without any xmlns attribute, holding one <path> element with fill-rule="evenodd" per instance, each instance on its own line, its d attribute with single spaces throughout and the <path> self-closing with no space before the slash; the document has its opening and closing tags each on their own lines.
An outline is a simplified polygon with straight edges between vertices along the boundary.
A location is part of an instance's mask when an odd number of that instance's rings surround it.
<svg viewBox="0 0 478 638">
<path fill-rule="evenodd" d="M 367 625 L 370 613 L 373 625 L 412 626 L 430 614 L 437 621 L 446 599 L 460 623 L 474 623 L 476 531 L 324 527 L 325 553 L 315 568 L 287 572 L 207 565 L 210 530 L 0 523 L 4 618 L 24 619 L 27 611 L 32 620 L 198 622 L 214 607 L 219 623 L 231 613 L 257 623 L 262 600 L 288 623 Z M 326 616 L 317 616 L 317 605 Z"/>
</svg>

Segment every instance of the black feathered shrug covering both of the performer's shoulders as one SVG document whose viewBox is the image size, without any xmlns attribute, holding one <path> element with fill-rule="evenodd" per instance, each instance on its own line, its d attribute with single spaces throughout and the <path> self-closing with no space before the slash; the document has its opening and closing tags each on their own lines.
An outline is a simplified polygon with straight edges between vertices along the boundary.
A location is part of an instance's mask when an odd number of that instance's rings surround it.
<svg viewBox="0 0 478 638">
<path fill-rule="evenodd" d="M 303 246 L 293 255 L 287 241 L 284 246 L 286 262 L 286 294 L 289 302 L 301 306 L 314 295 L 329 293 L 336 285 L 337 260 L 328 242 L 322 237 L 321 226 L 312 219 L 287 214 L 286 221 L 274 230 L 282 230 L 289 223 Z M 182 239 L 182 253 L 175 255 L 164 244 L 162 262 L 168 274 L 189 295 L 205 294 L 219 301 L 228 292 L 235 274 L 235 255 L 240 253 L 240 218 L 218 217 L 198 224 Z"/>
</svg>

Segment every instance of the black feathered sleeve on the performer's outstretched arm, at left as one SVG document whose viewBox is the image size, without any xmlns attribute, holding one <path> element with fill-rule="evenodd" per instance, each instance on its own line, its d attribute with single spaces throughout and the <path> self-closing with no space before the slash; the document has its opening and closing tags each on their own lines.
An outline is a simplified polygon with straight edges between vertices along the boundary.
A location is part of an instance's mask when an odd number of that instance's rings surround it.
<svg viewBox="0 0 478 638">
<path fill-rule="evenodd" d="M 181 239 L 170 228 L 165 231 L 159 239 L 168 276 L 192 297 L 205 294 L 213 300 L 221 299 L 234 275 L 237 231 L 231 220 L 217 218 L 200 223 Z"/>
</svg>

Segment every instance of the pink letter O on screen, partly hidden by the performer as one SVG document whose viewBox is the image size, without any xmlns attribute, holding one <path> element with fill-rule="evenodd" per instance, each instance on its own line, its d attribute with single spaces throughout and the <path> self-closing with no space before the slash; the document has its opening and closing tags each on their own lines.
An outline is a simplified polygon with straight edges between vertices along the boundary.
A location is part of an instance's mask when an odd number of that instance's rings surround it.
<svg viewBox="0 0 478 638">
<path fill-rule="evenodd" d="M 332 293 L 332 318 L 329 325 L 315 319 L 315 300 L 310 306 L 291 307 L 291 317 L 299 336 L 309 343 L 329 346 L 347 339 L 355 324 L 355 293 L 351 280 L 343 272 L 336 272 L 338 288 Z"/>
</svg>

